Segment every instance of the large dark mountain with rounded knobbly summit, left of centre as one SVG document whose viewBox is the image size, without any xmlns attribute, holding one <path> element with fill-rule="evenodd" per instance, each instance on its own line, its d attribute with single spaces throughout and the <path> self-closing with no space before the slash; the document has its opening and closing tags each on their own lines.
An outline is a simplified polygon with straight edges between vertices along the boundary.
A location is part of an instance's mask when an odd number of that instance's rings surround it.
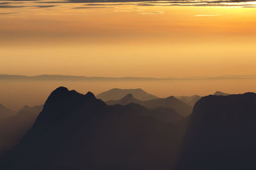
<svg viewBox="0 0 256 170">
<path fill-rule="evenodd" d="M 180 128 L 148 115 L 139 104 L 108 106 L 60 87 L 0 169 L 171 169 Z"/>
</svg>

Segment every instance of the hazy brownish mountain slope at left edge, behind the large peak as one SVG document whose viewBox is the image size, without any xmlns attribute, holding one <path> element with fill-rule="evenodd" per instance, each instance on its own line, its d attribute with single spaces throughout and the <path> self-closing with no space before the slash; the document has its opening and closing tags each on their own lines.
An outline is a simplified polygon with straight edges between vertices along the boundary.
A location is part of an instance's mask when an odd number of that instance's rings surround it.
<svg viewBox="0 0 256 170">
<path fill-rule="evenodd" d="M 42 106 L 25 106 L 16 115 L 0 119 L 0 155 L 19 143 L 34 124 L 40 111 Z"/>
</svg>

